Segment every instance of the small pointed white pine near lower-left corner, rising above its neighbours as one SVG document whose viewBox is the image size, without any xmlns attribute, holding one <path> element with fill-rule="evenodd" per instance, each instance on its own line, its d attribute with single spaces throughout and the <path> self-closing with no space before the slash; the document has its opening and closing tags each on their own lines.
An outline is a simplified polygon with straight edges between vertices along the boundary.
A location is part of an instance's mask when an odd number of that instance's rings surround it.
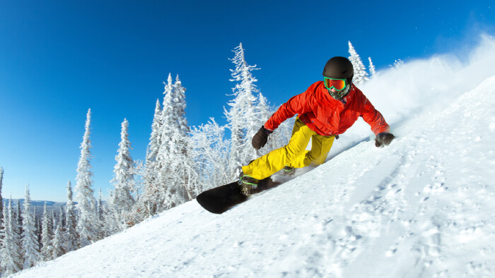
<svg viewBox="0 0 495 278">
<path fill-rule="evenodd" d="M 37 241 L 37 233 L 35 227 L 35 217 L 31 213 L 31 197 L 29 193 L 29 186 L 25 187 L 25 199 L 23 210 L 23 252 L 24 252 L 24 265 L 23 269 L 33 267 L 40 261 L 40 245 Z"/>
</svg>

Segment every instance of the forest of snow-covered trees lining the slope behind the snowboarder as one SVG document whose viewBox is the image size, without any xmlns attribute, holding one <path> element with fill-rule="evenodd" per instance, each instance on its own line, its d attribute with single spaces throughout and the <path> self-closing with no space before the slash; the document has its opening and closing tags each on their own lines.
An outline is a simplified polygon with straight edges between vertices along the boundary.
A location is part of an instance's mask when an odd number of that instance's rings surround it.
<svg viewBox="0 0 495 278">
<path fill-rule="evenodd" d="M 227 123 L 210 118 L 200 126 L 188 126 L 185 114 L 185 87 L 179 76 L 169 74 L 164 82 L 163 100 L 155 104 L 151 136 L 144 162 L 130 154 L 129 121 L 122 121 L 121 141 L 115 156 L 113 189 L 108 200 L 98 200 L 93 190 L 91 171 L 91 109 L 86 115 L 81 157 L 77 166 L 75 197 L 69 181 L 67 203 L 58 217 L 45 205 L 41 219 L 31 206 L 29 187 L 20 203 L 0 205 L 0 270 L 13 274 L 38 262 L 53 260 L 129 228 L 144 219 L 193 200 L 202 191 L 230 183 L 240 167 L 260 155 L 289 142 L 293 120 L 279 126 L 262 150 L 250 140 L 271 116 L 272 107 L 258 89 L 253 71 L 259 69 L 245 60 L 240 44 L 233 50 L 232 99 L 224 108 Z M 354 65 L 354 83 L 365 83 L 376 74 L 368 58 L 369 72 L 349 42 L 349 60 Z M 330 58 L 330 57 L 329 57 Z M 396 61 L 400 66 L 402 61 Z M 0 168 L 0 193 L 4 169 Z M 1 199 L 0 203 L 4 204 Z"/>
</svg>

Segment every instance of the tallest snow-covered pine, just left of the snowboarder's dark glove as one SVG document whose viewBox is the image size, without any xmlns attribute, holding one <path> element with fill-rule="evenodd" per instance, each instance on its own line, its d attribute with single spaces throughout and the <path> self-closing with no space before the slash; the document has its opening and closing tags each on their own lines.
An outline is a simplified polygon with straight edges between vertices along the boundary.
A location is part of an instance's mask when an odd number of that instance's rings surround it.
<svg viewBox="0 0 495 278">
<path fill-rule="evenodd" d="M 256 151 L 248 143 L 260 129 L 259 115 L 255 109 L 256 97 L 253 95 L 258 92 L 255 85 L 257 79 L 251 73 L 259 68 L 246 62 L 242 43 L 233 52 L 235 56 L 231 61 L 235 69 L 231 69 L 231 81 L 235 82 L 235 87 L 232 88 L 234 99 L 228 102 L 228 111 L 224 108 L 228 128 L 231 130 L 231 161 L 228 168 L 231 180 L 238 176 L 242 165 L 256 157 Z"/>
</svg>

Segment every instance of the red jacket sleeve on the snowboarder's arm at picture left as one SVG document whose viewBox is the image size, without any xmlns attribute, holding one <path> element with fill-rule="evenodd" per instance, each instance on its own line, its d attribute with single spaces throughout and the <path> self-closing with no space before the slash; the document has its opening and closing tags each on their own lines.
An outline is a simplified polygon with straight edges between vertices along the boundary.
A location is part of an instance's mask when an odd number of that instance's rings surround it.
<svg viewBox="0 0 495 278">
<path fill-rule="evenodd" d="M 312 87 L 309 87 L 308 90 L 303 92 L 300 95 L 296 95 L 291 97 L 289 101 L 282 104 L 279 109 L 275 111 L 275 113 L 268 119 L 266 123 L 264 123 L 264 128 L 267 128 L 270 131 L 278 128 L 281 123 L 283 123 L 286 119 L 293 117 L 296 114 L 304 114 L 307 111 L 310 111 L 310 93 L 313 91 Z"/>
</svg>

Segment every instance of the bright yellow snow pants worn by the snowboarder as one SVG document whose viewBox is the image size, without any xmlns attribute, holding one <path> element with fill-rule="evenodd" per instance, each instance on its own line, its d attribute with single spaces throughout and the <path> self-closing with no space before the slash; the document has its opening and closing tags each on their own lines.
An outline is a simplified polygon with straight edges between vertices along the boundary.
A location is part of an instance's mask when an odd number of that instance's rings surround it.
<svg viewBox="0 0 495 278">
<path fill-rule="evenodd" d="M 311 150 L 306 150 L 311 138 Z M 243 166 L 243 173 L 261 180 L 272 176 L 285 166 L 303 168 L 317 166 L 325 162 L 334 142 L 334 135 L 322 136 L 312 131 L 300 119 L 296 119 L 289 144 L 267 155 L 259 157 L 248 166 Z"/>
</svg>

